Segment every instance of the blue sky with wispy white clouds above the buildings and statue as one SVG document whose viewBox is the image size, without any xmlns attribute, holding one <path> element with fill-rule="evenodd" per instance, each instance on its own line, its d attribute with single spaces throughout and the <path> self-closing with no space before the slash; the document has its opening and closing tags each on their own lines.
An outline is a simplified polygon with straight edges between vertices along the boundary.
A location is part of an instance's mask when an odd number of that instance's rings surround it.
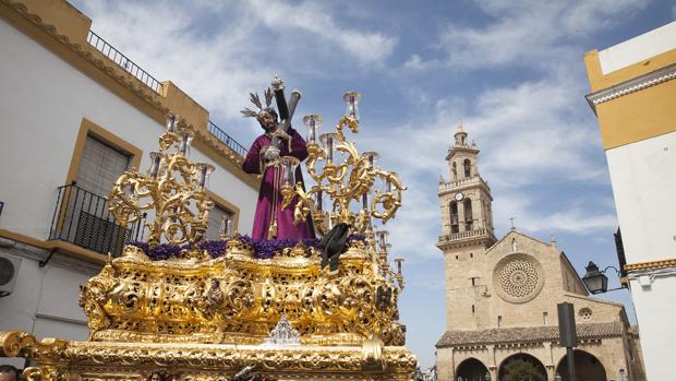
<svg viewBox="0 0 676 381">
<path fill-rule="evenodd" d="M 589 260 L 617 265 L 582 56 L 675 20 L 673 1 L 73 2 L 94 32 L 245 146 L 259 128 L 238 111 L 274 73 L 302 91 L 297 116 L 318 112 L 326 126 L 345 112 L 345 91 L 363 94 L 358 147 L 381 152 L 409 187 L 387 229 L 393 257 L 406 258 L 407 346 L 424 368 L 445 326 L 436 187 L 458 120 L 481 150 L 497 237 L 516 217 L 529 235 L 554 234 L 580 274 Z M 627 291 L 603 297 L 633 317 Z"/>
</svg>

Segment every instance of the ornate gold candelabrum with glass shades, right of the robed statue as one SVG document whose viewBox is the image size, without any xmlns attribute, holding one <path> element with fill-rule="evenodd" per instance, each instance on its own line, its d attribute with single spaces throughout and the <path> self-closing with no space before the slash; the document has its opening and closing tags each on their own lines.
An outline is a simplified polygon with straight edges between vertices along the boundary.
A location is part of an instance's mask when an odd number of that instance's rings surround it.
<svg viewBox="0 0 676 381">
<path fill-rule="evenodd" d="M 336 132 L 322 134 L 317 139 L 317 130 L 323 118 L 319 115 L 307 115 L 303 122 L 307 127 L 307 172 L 316 182 L 310 190 L 297 183 L 293 172 L 298 160 L 282 160 L 285 182 L 281 187 L 282 205 L 288 207 L 295 198 L 294 221 L 305 221 L 312 214 L 319 233 L 325 234 L 330 226 L 348 223 L 353 231 L 366 233 L 372 227 L 372 218 L 382 219 L 385 224 L 393 218 L 401 206 L 401 192 L 407 188 L 394 171 L 378 168 L 375 160 L 376 152 L 364 152 L 360 155 L 354 143 L 346 139 L 343 130 L 349 128 L 352 133 L 359 132 L 358 103 L 360 94 L 346 93 L 346 115 L 338 121 Z M 340 156 L 343 156 L 340 163 Z M 321 170 L 317 170 L 323 163 Z M 382 188 L 373 191 L 376 179 Z M 324 210 L 323 201 L 329 199 L 330 207 Z M 353 205 L 351 203 L 353 202 Z"/>
</svg>

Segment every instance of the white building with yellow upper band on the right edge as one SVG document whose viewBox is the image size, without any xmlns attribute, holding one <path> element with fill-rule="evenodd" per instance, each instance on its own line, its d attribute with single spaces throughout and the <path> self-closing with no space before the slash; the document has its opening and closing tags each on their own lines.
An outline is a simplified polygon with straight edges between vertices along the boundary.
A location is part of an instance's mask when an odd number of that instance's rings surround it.
<svg viewBox="0 0 676 381">
<path fill-rule="evenodd" d="M 590 51 L 599 118 L 649 380 L 676 374 L 676 22 Z M 600 264 L 601 265 L 601 264 Z"/>
</svg>

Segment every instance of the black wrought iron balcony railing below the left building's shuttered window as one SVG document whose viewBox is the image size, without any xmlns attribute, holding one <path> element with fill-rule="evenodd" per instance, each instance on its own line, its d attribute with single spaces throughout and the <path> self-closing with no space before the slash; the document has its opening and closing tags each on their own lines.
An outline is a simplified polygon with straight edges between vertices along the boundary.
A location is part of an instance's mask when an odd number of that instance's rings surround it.
<svg viewBox="0 0 676 381">
<path fill-rule="evenodd" d="M 108 210 L 105 198 L 73 182 L 58 189 L 49 239 L 118 257 L 124 243 L 143 239 L 144 223 L 145 215 L 135 224 L 123 227 Z"/>
</svg>

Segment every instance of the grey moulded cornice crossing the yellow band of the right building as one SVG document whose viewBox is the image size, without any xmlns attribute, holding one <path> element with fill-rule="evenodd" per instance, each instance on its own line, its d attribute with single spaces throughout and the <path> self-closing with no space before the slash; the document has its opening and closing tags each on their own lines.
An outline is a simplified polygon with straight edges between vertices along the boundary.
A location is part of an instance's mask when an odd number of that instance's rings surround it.
<svg viewBox="0 0 676 381">
<path fill-rule="evenodd" d="M 589 106 L 592 108 L 592 110 L 595 114 L 596 105 L 600 105 L 608 100 L 613 100 L 615 98 L 619 98 L 627 94 L 639 92 L 641 90 L 644 90 L 651 86 L 655 86 L 660 83 L 671 81 L 674 79 L 676 79 L 676 63 L 657 69 L 647 74 L 639 75 L 629 81 L 618 83 L 608 88 L 604 88 L 595 93 L 588 94 L 586 98 L 587 98 L 587 102 L 589 103 Z"/>
</svg>

